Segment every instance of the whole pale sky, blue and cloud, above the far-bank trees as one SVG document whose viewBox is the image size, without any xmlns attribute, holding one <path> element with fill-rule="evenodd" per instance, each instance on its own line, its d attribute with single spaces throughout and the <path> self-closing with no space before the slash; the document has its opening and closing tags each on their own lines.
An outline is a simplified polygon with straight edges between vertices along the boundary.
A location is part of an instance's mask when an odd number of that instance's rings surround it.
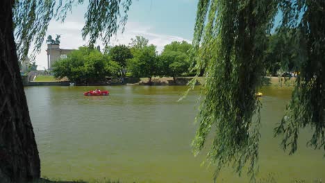
<svg viewBox="0 0 325 183">
<path fill-rule="evenodd" d="M 111 45 L 126 44 L 136 35 L 149 40 L 149 44 L 163 51 L 166 44 L 173 41 L 192 41 L 198 0 L 133 0 L 128 11 L 128 21 L 124 33 L 119 30 L 111 39 Z M 84 15 L 88 3 L 78 5 L 67 15 L 64 23 L 52 20 L 47 35 L 60 37 L 60 49 L 78 49 L 87 43 L 81 37 L 85 24 Z M 35 62 L 39 70 L 47 69 L 47 44 L 42 44 Z M 102 47 L 101 47 L 102 48 Z"/>
</svg>

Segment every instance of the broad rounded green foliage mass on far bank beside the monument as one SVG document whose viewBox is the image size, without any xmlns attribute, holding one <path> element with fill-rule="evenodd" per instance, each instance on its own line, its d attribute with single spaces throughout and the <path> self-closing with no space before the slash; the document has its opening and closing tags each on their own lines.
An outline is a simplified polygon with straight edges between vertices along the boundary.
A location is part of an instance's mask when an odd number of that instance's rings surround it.
<svg viewBox="0 0 325 183">
<path fill-rule="evenodd" d="M 67 77 L 73 82 L 95 82 L 103 80 L 105 76 L 117 74 L 120 67 L 117 62 L 108 60 L 97 49 L 80 47 L 72 51 L 67 58 L 53 64 L 55 78 Z"/>
</svg>

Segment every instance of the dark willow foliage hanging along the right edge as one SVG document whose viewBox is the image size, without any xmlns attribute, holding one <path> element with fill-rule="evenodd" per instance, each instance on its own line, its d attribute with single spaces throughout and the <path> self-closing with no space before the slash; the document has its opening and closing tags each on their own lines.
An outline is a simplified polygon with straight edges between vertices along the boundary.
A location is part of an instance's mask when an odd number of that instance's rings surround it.
<svg viewBox="0 0 325 183">
<path fill-rule="evenodd" d="M 297 49 L 297 77 L 292 99 L 276 135 L 283 134 L 282 146 L 297 150 L 301 128 L 311 127 L 313 136 L 308 146 L 325 151 L 325 1 L 285 1 L 279 4 L 283 12 L 282 33 L 294 30 L 292 38 Z"/>
</svg>

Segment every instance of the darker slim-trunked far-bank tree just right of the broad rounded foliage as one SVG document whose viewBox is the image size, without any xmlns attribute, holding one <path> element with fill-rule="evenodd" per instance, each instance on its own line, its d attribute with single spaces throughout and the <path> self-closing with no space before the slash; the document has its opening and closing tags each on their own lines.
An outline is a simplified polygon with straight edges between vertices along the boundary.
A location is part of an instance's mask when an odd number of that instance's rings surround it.
<svg viewBox="0 0 325 183">
<path fill-rule="evenodd" d="M 113 46 L 109 49 L 108 56 L 122 67 L 122 76 L 126 76 L 126 60 L 133 58 L 131 50 L 124 44 Z"/>
</svg>

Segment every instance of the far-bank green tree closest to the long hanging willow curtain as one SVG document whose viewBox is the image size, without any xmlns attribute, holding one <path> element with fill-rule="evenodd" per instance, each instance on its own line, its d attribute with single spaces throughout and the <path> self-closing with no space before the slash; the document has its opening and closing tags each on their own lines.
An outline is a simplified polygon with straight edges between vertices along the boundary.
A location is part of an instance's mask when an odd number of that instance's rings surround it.
<svg viewBox="0 0 325 183">
<path fill-rule="evenodd" d="M 172 76 L 176 82 L 176 76 L 189 71 L 188 51 L 190 48 L 191 44 L 185 41 L 167 44 L 159 56 L 160 75 Z"/>
</svg>

